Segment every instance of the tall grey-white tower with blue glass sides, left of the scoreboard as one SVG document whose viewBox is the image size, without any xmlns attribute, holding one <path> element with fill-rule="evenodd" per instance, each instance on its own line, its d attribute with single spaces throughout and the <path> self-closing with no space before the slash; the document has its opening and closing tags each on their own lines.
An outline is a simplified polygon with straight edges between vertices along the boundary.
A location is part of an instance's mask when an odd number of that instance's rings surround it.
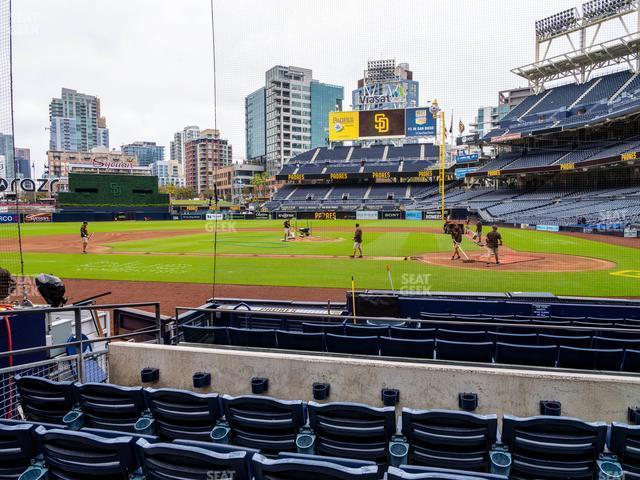
<svg viewBox="0 0 640 480">
<path fill-rule="evenodd" d="M 307 68 L 277 65 L 267 70 L 264 89 L 245 99 L 247 160 L 264 156 L 266 171 L 275 175 L 291 157 L 312 146 L 326 145 L 329 111 L 341 108 L 343 98 L 342 87 L 314 81 Z M 318 109 L 316 115 L 314 107 Z"/>
</svg>

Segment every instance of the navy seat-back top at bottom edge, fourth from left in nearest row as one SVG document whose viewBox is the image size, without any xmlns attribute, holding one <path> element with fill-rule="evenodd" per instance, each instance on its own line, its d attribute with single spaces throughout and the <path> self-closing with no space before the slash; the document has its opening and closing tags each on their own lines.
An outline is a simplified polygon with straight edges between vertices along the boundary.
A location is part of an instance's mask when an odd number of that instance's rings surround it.
<svg viewBox="0 0 640 480">
<path fill-rule="evenodd" d="M 251 459 L 255 480 L 378 480 L 375 463 L 316 455 L 281 454 Z"/>
</svg>

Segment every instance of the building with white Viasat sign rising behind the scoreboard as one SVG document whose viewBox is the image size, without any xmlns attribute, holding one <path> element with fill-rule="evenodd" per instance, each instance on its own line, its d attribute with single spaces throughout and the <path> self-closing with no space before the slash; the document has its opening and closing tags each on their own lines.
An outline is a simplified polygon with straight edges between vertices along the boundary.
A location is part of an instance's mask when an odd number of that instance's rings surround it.
<svg viewBox="0 0 640 480">
<path fill-rule="evenodd" d="M 351 98 L 354 110 L 419 107 L 419 83 L 408 63 L 370 60 Z"/>
</svg>

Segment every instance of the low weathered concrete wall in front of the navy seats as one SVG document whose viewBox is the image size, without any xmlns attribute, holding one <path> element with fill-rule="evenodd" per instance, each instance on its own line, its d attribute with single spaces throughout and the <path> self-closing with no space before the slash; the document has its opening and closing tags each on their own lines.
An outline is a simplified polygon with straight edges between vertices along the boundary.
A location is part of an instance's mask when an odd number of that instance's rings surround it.
<svg viewBox="0 0 640 480">
<path fill-rule="evenodd" d="M 627 407 L 640 404 L 640 377 L 404 363 L 332 356 L 293 355 L 201 347 L 112 343 L 110 381 L 140 385 L 140 370 L 160 369 L 154 386 L 194 390 L 192 375 L 210 372 L 201 391 L 247 395 L 250 380 L 269 378 L 268 395 L 312 400 L 314 382 L 331 384 L 328 401 L 381 406 L 380 390 L 400 390 L 399 407 L 458 409 L 459 392 L 479 396 L 476 413 L 531 416 L 540 400 L 562 402 L 562 414 L 588 421 L 625 421 Z"/>
</svg>

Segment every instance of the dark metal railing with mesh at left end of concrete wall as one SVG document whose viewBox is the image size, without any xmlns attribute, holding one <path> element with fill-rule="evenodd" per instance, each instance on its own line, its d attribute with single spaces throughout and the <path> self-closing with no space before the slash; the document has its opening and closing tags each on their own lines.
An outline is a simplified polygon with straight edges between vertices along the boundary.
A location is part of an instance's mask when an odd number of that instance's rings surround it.
<svg viewBox="0 0 640 480">
<path fill-rule="evenodd" d="M 82 331 L 82 313 L 94 312 L 98 310 L 114 310 L 119 308 L 149 308 L 153 312 L 149 312 L 150 316 L 155 319 L 153 328 L 145 328 L 135 332 L 129 332 L 122 335 L 98 336 L 92 339 L 83 338 Z M 24 310 L 10 310 L 0 314 L 1 317 L 19 317 L 23 315 L 33 315 L 34 313 L 43 314 L 43 320 L 46 322 L 46 316 L 56 313 L 72 312 L 73 313 L 73 335 L 70 341 L 65 343 L 57 343 L 53 345 L 42 345 L 37 347 L 24 348 L 19 350 L 8 350 L 0 352 L 0 360 L 11 358 L 15 359 L 20 356 L 48 353 L 52 350 L 64 349 L 65 353 L 45 360 L 24 363 L 21 365 L 0 368 L 0 418 L 15 419 L 20 418 L 19 398 L 15 387 L 15 375 L 34 375 L 55 381 L 74 381 L 74 382 L 105 382 L 108 380 L 108 345 L 114 340 L 125 340 L 141 336 L 154 336 L 156 343 L 163 341 L 163 326 L 161 323 L 160 303 L 143 302 L 143 303 L 126 303 L 126 304 L 104 304 L 104 305 L 71 305 L 59 308 L 31 308 Z M 104 344 L 104 348 L 98 351 L 93 350 L 94 344 Z"/>
</svg>

